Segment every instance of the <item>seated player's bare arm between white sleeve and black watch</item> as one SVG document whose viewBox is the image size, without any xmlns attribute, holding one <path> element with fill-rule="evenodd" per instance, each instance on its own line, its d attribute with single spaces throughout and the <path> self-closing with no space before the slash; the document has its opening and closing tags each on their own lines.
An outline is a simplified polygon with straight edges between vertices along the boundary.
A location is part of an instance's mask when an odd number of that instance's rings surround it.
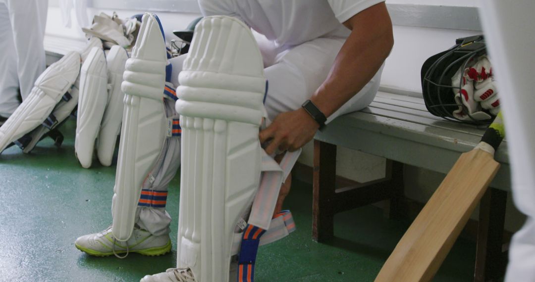
<svg viewBox="0 0 535 282">
<path fill-rule="evenodd" d="M 327 79 L 311 98 L 327 117 L 372 79 L 392 49 L 392 24 L 382 5 L 372 6 L 368 9 L 371 11 L 362 11 L 345 22 L 352 29 L 351 34 Z"/>
</svg>

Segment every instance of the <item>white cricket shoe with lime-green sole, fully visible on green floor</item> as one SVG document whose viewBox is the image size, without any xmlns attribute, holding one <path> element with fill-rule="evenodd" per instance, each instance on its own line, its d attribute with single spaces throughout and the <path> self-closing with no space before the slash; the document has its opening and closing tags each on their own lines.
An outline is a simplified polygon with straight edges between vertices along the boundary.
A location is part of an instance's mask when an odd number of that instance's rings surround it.
<svg viewBox="0 0 535 282">
<path fill-rule="evenodd" d="M 74 246 L 93 256 L 116 255 L 124 258 L 128 253 L 138 253 L 148 256 L 158 256 L 171 252 L 169 235 L 154 236 L 147 230 L 134 228 L 132 237 L 126 242 L 117 241 L 113 237 L 111 226 L 101 232 L 79 237 Z M 119 254 L 126 254 L 119 256 Z"/>
</svg>

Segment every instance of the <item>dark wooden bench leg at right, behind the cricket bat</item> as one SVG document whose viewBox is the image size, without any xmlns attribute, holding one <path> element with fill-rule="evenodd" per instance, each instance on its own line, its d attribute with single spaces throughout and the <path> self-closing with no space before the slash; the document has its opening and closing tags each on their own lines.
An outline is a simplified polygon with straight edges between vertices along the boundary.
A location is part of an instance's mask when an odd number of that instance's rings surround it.
<svg viewBox="0 0 535 282">
<path fill-rule="evenodd" d="M 481 199 L 474 272 L 476 282 L 490 281 L 505 273 L 507 258 L 502 252 L 502 244 L 506 201 L 507 192 L 492 187 Z"/>
</svg>

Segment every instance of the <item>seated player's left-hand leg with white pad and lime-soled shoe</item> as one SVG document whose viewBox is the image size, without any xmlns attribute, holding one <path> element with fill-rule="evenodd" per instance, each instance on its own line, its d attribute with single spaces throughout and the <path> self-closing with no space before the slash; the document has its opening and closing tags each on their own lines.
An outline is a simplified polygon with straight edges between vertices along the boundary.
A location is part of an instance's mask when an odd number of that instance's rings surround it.
<svg viewBox="0 0 535 282">
<path fill-rule="evenodd" d="M 114 225 L 103 232 L 82 236 L 75 243 L 78 249 L 91 255 L 104 256 L 127 252 L 161 255 L 171 250 L 169 238 L 171 217 L 166 212 L 165 205 L 167 187 L 180 166 L 179 116 L 174 109 L 176 96 L 172 85 L 166 82 L 162 90 L 159 90 L 160 85 L 152 81 L 166 79 L 165 75 L 149 73 L 158 72 L 157 67 L 165 66 L 161 64 L 162 55 L 165 56 L 165 46 L 159 20 L 149 14 L 145 14 L 143 19 L 139 37 L 141 39 L 136 43 L 136 52 L 127 62 L 128 76 L 125 77 L 128 78 L 123 82 L 123 89 L 125 82 L 127 85 L 125 99 L 128 103 L 125 103 L 112 204 Z M 161 52 L 158 51 L 160 48 Z M 171 77 L 178 76 L 180 72 L 181 66 L 179 64 L 176 66 L 173 69 L 166 68 L 167 72 L 172 71 Z M 146 76 L 154 79 L 143 80 Z M 165 97 L 163 109 L 159 104 L 162 99 L 159 98 L 161 97 L 159 93 L 162 93 L 160 91 L 163 91 Z M 141 102 L 138 100 L 139 97 L 143 98 Z M 141 108 L 141 105 L 151 107 Z M 139 113 L 139 119 L 133 113 Z M 162 115 L 166 126 L 159 128 L 162 125 Z M 155 152 L 157 154 L 154 154 Z M 154 165 L 150 165 L 151 163 Z M 137 205 L 134 206 L 130 201 L 132 191 L 129 189 L 136 187 L 137 183 L 141 186 L 139 192 L 141 195 L 137 198 L 139 199 Z M 116 240 L 121 236 L 126 237 L 127 241 Z"/>
</svg>

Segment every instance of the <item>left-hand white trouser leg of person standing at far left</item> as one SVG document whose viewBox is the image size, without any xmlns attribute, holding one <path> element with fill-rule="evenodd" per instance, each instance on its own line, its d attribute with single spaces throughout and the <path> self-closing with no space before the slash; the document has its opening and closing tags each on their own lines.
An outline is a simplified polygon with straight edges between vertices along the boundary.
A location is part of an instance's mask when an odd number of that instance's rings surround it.
<svg viewBox="0 0 535 282">
<path fill-rule="evenodd" d="M 17 52 L 9 11 L 0 3 L 0 117 L 9 117 L 19 106 L 17 100 L 19 78 L 17 76 Z M 0 121 L 1 122 L 1 121 Z"/>
</svg>

